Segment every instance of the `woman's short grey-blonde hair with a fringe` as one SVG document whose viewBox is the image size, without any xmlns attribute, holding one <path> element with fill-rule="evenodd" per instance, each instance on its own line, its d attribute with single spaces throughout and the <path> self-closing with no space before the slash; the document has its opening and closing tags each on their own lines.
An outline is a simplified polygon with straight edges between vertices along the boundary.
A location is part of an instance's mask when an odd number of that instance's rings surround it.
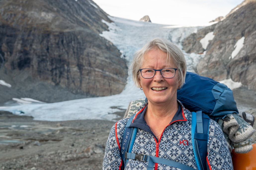
<svg viewBox="0 0 256 170">
<path fill-rule="evenodd" d="M 177 67 L 177 71 L 179 72 L 179 79 L 180 87 L 183 86 L 185 82 L 186 72 L 187 72 L 187 64 L 185 57 L 182 53 L 182 51 L 173 43 L 170 41 L 163 39 L 163 38 L 154 38 L 150 42 L 146 43 L 144 47 L 140 50 L 138 50 L 133 58 L 133 61 L 131 63 L 131 66 L 129 67 L 130 73 L 132 73 L 133 81 L 137 87 L 140 87 L 139 81 L 140 81 L 140 71 L 143 60 L 144 60 L 144 54 L 146 54 L 148 51 L 159 48 L 163 52 L 167 53 L 167 60 L 170 61 L 170 59 L 173 60 L 175 66 Z"/>
</svg>

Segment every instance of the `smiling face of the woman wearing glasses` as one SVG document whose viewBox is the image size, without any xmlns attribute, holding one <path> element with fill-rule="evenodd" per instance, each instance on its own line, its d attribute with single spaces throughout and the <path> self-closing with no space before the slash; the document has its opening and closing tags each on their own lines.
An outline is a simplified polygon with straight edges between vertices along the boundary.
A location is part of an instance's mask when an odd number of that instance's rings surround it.
<svg viewBox="0 0 256 170">
<path fill-rule="evenodd" d="M 141 69 L 164 69 L 164 68 L 177 68 L 172 59 L 167 61 L 167 53 L 155 48 L 148 51 L 144 55 L 144 62 Z M 179 73 L 173 78 L 164 78 L 160 71 L 156 71 L 155 76 L 151 79 L 144 79 L 140 74 L 140 85 L 143 88 L 144 94 L 148 101 L 151 103 L 170 103 L 177 100 L 177 88 Z M 165 87 L 163 90 L 154 90 L 153 88 Z"/>
</svg>

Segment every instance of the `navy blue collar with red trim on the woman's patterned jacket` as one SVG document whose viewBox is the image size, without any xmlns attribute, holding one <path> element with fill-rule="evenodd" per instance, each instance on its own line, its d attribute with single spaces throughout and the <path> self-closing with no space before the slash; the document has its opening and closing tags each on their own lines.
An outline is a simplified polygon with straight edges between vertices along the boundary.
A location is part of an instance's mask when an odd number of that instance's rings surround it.
<svg viewBox="0 0 256 170">
<path fill-rule="evenodd" d="M 150 127 L 147 125 L 147 123 L 146 123 L 146 121 L 144 119 L 144 115 L 145 115 L 146 111 L 147 111 L 147 106 L 145 106 L 144 110 L 141 113 L 137 114 L 137 116 L 135 117 L 135 119 L 131 123 L 130 127 L 137 127 L 137 128 L 142 129 L 142 130 L 145 130 L 146 132 L 152 134 L 155 137 L 155 139 L 157 140 L 157 142 L 158 142 L 157 137 L 151 131 Z M 170 122 L 170 124 L 172 124 L 173 122 L 176 122 L 176 121 L 183 121 L 183 120 L 186 120 L 186 119 L 184 119 L 183 113 L 182 113 L 182 107 L 178 103 L 178 111 L 173 116 L 173 119 Z"/>
</svg>

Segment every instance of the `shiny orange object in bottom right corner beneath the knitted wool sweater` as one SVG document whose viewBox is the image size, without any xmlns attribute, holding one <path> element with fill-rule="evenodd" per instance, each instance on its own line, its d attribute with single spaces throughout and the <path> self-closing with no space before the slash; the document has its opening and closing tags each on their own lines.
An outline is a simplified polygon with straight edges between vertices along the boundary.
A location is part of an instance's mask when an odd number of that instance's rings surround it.
<svg viewBox="0 0 256 170">
<path fill-rule="evenodd" d="M 232 150 L 232 162 L 234 170 L 256 170 L 256 143 L 248 153 L 236 153 Z"/>
</svg>

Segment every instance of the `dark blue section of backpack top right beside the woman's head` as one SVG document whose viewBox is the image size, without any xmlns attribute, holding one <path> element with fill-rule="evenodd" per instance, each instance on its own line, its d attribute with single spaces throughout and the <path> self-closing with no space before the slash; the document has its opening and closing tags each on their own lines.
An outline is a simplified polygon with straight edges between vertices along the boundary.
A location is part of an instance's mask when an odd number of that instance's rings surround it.
<svg viewBox="0 0 256 170">
<path fill-rule="evenodd" d="M 185 84 L 177 91 L 177 99 L 185 108 L 191 111 L 202 111 L 211 114 L 215 108 L 216 100 L 212 94 L 212 87 L 218 82 L 187 72 Z"/>
</svg>

